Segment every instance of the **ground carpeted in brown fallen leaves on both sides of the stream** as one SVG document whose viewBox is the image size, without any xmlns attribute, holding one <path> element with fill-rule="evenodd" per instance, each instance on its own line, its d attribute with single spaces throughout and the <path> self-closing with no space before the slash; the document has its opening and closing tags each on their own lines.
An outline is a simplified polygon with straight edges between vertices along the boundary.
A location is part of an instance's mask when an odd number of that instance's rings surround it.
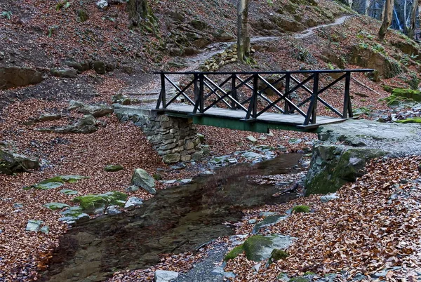
<svg viewBox="0 0 421 282">
<path fill-rule="evenodd" d="M 48 266 L 49 253 L 57 245 L 59 236 L 67 229 L 65 224 L 58 222 L 59 212 L 48 210 L 43 205 L 52 201 L 71 204 L 73 196 L 65 196 L 57 191 L 25 191 L 22 187 L 55 175 L 79 174 L 89 178 L 65 184 L 64 188 L 74 189 L 79 194 L 111 190 L 125 192 L 135 168 L 144 168 L 148 173 L 156 173 L 157 168 L 168 169 L 139 128 L 130 123 L 119 123 L 114 116 L 100 118 L 106 126 L 91 135 L 39 133 L 34 131 L 39 124 L 27 123 L 40 114 L 62 112 L 70 99 L 110 103 L 111 95 L 123 86 L 149 82 L 151 75 L 142 72 L 168 69 L 166 63 L 173 59 L 168 55 L 166 45 L 160 46 L 162 41 L 156 36 L 144 30 L 128 28 L 124 5 L 113 5 L 100 11 L 95 6 L 96 0 L 70 2 L 69 7 L 59 9 L 55 1 L 5 0 L 1 3 L 2 11 L 11 11 L 13 15 L 11 20 L 0 18 L 0 51 L 4 53 L 0 65 L 34 67 L 43 72 L 46 80 L 36 86 L 0 91 L 0 140 L 6 141 L 8 147 L 18 152 L 45 159 L 46 163 L 43 170 L 37 173 L 0 175 L 0 281 L 31 281 L 37 278 L 38 271 Z M 392 46 L 392 42 L 404 43 L 406 39 L 396 32 L 388 32 L 386 41 L 378 42 L 375 31 L 379 22 L 365 17 L 352 17 L 343 25 L 316 30 L 306 40 L 294 39 L 278 27 L 266 31 L 258 29 L 260 18 L 269 18 L 271 13 L 278 13 L 279 8 L 289 2 L 274 1 L 274 6 L 267 6 L 267 1 L 254 1 L 250 13 L 252 34 L 276 34 L 281 37 L 276 41 L 261 43 L 263 48 L 260 50 L 255 46 L 257 65 L 232 63 L 221 70 L 328 69 L 338 66 L 329 65 L 323 58 L 326 55 L 324 51 L 346 59 L 349 48 L 355 44 L 380 44 L 385 53 L 401 61 L 405 72 L 378 83 L 363 74 L 356 75 L 356 79 L 375 91 L 354 81 L 352 102 L 355 108 L 382 109 L 389 113 L 385 102 L 379 100 L 389 95 L 382 86 L 407 88 L 413 74 L 415 78 L 418 76 L 420 62 L 417 58 Z M 312 5 L 305 1 L 295 2 L 298 2 L 295 12 L 306 27 L 333 21 L 333 18 L 329 18 L 332 13 L 345 13 L 332 1 L 319 1 L 319 12 L 318 7 L 310 7 Z M 86 22 L 77 19 L 81 8 L 88 12 L 89 20 Z M 235 14 L 234 1 L 153 1 L 152 8 L 160 22 L 161 39 L 167 43 L 176 41 L 170 34 L 173 27 L 180 29 L 179 34 L 192 32 L 189 21 L 194 19 L 203 20 L 212 30 L 225 29 L 235 34 L 235 19 L 232 17 Z M 175 25 L 168 17 L 171 11 L 180 11 L 186 18 L 185 22 Z M 211 31 L 193 32 L 213 40 Z M 183 44 L 191 45 L 188 42 Z M 376 48 L 381 50 L 380 47 Z M 115 62 L 117 70 L 106 75 L 98 75 L 91 70 L 79 74 L 76 79 L 58 79 L 49 75 L 51 67 L 62 66 L 67 59 L 107 60 Z M 135 74 L 129 75 L 119 70 L 119 66 L 126 63 L 133 65 Z M 346 67 L 357 68 L 354 65 Z M 330 81 L 330 77 L 322 79 L 323 83 Z M 340 105 L 342 96 L 326 93 L 326 100 Z M 326 109 L 321 107 L 320 110 L 324 114 Z M 68 114 L 66 119 L 44 123 L 43 126 L 71 123 L 80 117 L 74 112 Z M 199 131 L 210 145 L 211 156 L 249 149 L 246 136 L 260 137 L 258 133 L 206 126 L 199 126 Z M 273 137 L 265 137 L 267 140 L 259 140 L 259 145 L 283 145 L 289 152 L 304 149 L 308 145 L 305 142 L 291 144 L 288 140 L 316 138 L 312 134 L 276 130 Z M 125 170 L 105 173 L 103 168 L 109 163 L 119 163 Z M 298 203 L 307 203 L 312 206 L 314 213 L 293 215 L 286 222 L 267 229 L 267 232 L 298 236 L 299 241 L 288 250 L 291 254 L 288 260 L 253 274 L 250 267 L 254 262 L 240 256 L 229 262 L 227 269 L 236 272 L 238 281 L 273 281 L 273 277 L 280 272 L 294 275 L 305 271 L 325 274 L 346 270 L 354 275 L 358 271 L 370 274 L 377 269 L 400 265 L 407 269 L 388 274 L 390 281 L 394 277 L 406 277 L 410 281 L 413 275 L 410 269 L 416 269 L 420 264 L 420 230 L 417 225 L 420 183 L 411 182 L 420 177 L 417 171 L 419 163 L 417 157 L 373 162 L 366 176 L 355 184 L 343 187 L 339 192 L 340 199 L 330 203 L 320 203 L 318 196 L 312 196 L 285 206 L 263 207 L 264 210 L 283 212 Z M 195 167 L 188 164 L 182 173 L 160 173 L 168 180 L 192 177 Z M 159 184 L 158 188 L 163 187 Z M 389 203 L 392 194 L 396 196 Z M 141 191 L 131 196 L 149 197 Z M 15 208 L 14 203 L 22 203 L 23 207 Z M 248 219 L 257 218 L 258 212 L 245 211 L 243 225 L 237 230 L 239 234 L 250 231 L 252 227 Z M 25 226 L 27 220 L 31 219 L 44 220 L 50 227 L 50 233 L 27 233 Z M 162 264 L 154 268 L 116 274 L 112 280 L 148 281 L 152 279 L 154 269 L 187 271 L 192 262 L 203 256 L 204 253 L 165 255 Z"/>
</svg>

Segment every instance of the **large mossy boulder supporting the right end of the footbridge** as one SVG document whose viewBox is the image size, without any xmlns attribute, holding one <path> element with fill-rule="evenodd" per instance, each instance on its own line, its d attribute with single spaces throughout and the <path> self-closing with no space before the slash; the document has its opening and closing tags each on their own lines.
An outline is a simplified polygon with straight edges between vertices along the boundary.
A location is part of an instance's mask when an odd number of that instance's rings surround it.
<svg viewBox="0 0 421 282">
<path fill-rule="evenodd" d="M 336 192 L 343 184 L 354 182 L 356 177 L 361 177 L 368 161 L 385 154 L 386 152 L 380 149 L 345 145 L 314 147 L 305 179 L 306 196 Z"/>
</svg>

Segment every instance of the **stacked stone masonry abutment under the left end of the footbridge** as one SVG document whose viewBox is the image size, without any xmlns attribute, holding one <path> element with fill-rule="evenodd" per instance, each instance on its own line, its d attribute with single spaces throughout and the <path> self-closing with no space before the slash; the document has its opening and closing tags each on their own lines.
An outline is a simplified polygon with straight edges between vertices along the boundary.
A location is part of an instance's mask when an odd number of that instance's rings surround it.
<svg viewBox="0 0 421 282">
<path fill-rule="evenodd" d="M 197 161 L 203 156 L 201 141 L 191 119 L 156 114 L 135 106 L 116 107 L 120 121 L 133 121 L 140 126 L 164 163 Z"/>
</svg>

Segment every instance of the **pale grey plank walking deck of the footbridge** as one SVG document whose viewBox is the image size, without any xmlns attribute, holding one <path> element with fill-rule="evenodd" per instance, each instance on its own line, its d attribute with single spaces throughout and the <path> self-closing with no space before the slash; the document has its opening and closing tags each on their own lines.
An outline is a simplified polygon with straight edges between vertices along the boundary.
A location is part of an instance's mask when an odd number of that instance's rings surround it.
<svg viewBox="0 0 421 282">
<path fill-rule="evenodd" d="M 271 112 L 265 112 L 258 116 L 257 119 L 250 121 L 244 121 L 243 119 L 246 116 L 246 112 L 240 109 L 223 109 L 218 107 L 212 107 L 202 114 L 192 114 L 194 107 L 192 105 L 183 105 L 183 104 L 171 104 L 169 105 L 164 112 L 168 115 L 175 116 L 185 116 L 185 117 L 213 117 L 219 119 L 230 119 L 239 122 L 247 123 L 267 123 L 269 128 L 279 128 L 279 126 L 288 126 L 296 127 L 297 130 L 314 130 L 323 124 L 328 123 L 339 123 L 345 121 L 346 119 L 334 118 L 331 116 L 317 116 L 316 123 L 311 123 L 307 126 L 303 126 L 305 117 L 300 114 L 276 114 Z M 196 122 L 203 124 L 200 121 Z M 207 125 L 212 125 L 205 123 Z M 271 126 L 272 125 L 272 126 Z M 215 125 L 218 126 L 218 125 Z M 222 126 L 225 127 L 225 126 Z"/>
</svg>

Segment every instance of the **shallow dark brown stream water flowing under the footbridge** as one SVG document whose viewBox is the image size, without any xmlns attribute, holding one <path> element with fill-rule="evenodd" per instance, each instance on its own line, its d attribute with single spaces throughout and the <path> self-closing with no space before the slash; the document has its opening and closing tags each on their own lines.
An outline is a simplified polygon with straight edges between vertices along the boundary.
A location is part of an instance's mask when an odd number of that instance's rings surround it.
<svg viewBox="0 0 421 282">
<path fill-rule="evenodd" d="M 44 281 L 102 281 L 114 271 L 144 269 L 161 253 L 184 253 L 233 234 L 241 210 L 284 203 L 295 194 L 273 196 L 279 187 L 256 184 L 252 175 L 298 173 L 300 154 L 285 154 L 254 166 L 220 168 L 192 184 L 159 190 L 141 208 L 97 217 L 70 229 L 53 253 Z"/>
</svg>

